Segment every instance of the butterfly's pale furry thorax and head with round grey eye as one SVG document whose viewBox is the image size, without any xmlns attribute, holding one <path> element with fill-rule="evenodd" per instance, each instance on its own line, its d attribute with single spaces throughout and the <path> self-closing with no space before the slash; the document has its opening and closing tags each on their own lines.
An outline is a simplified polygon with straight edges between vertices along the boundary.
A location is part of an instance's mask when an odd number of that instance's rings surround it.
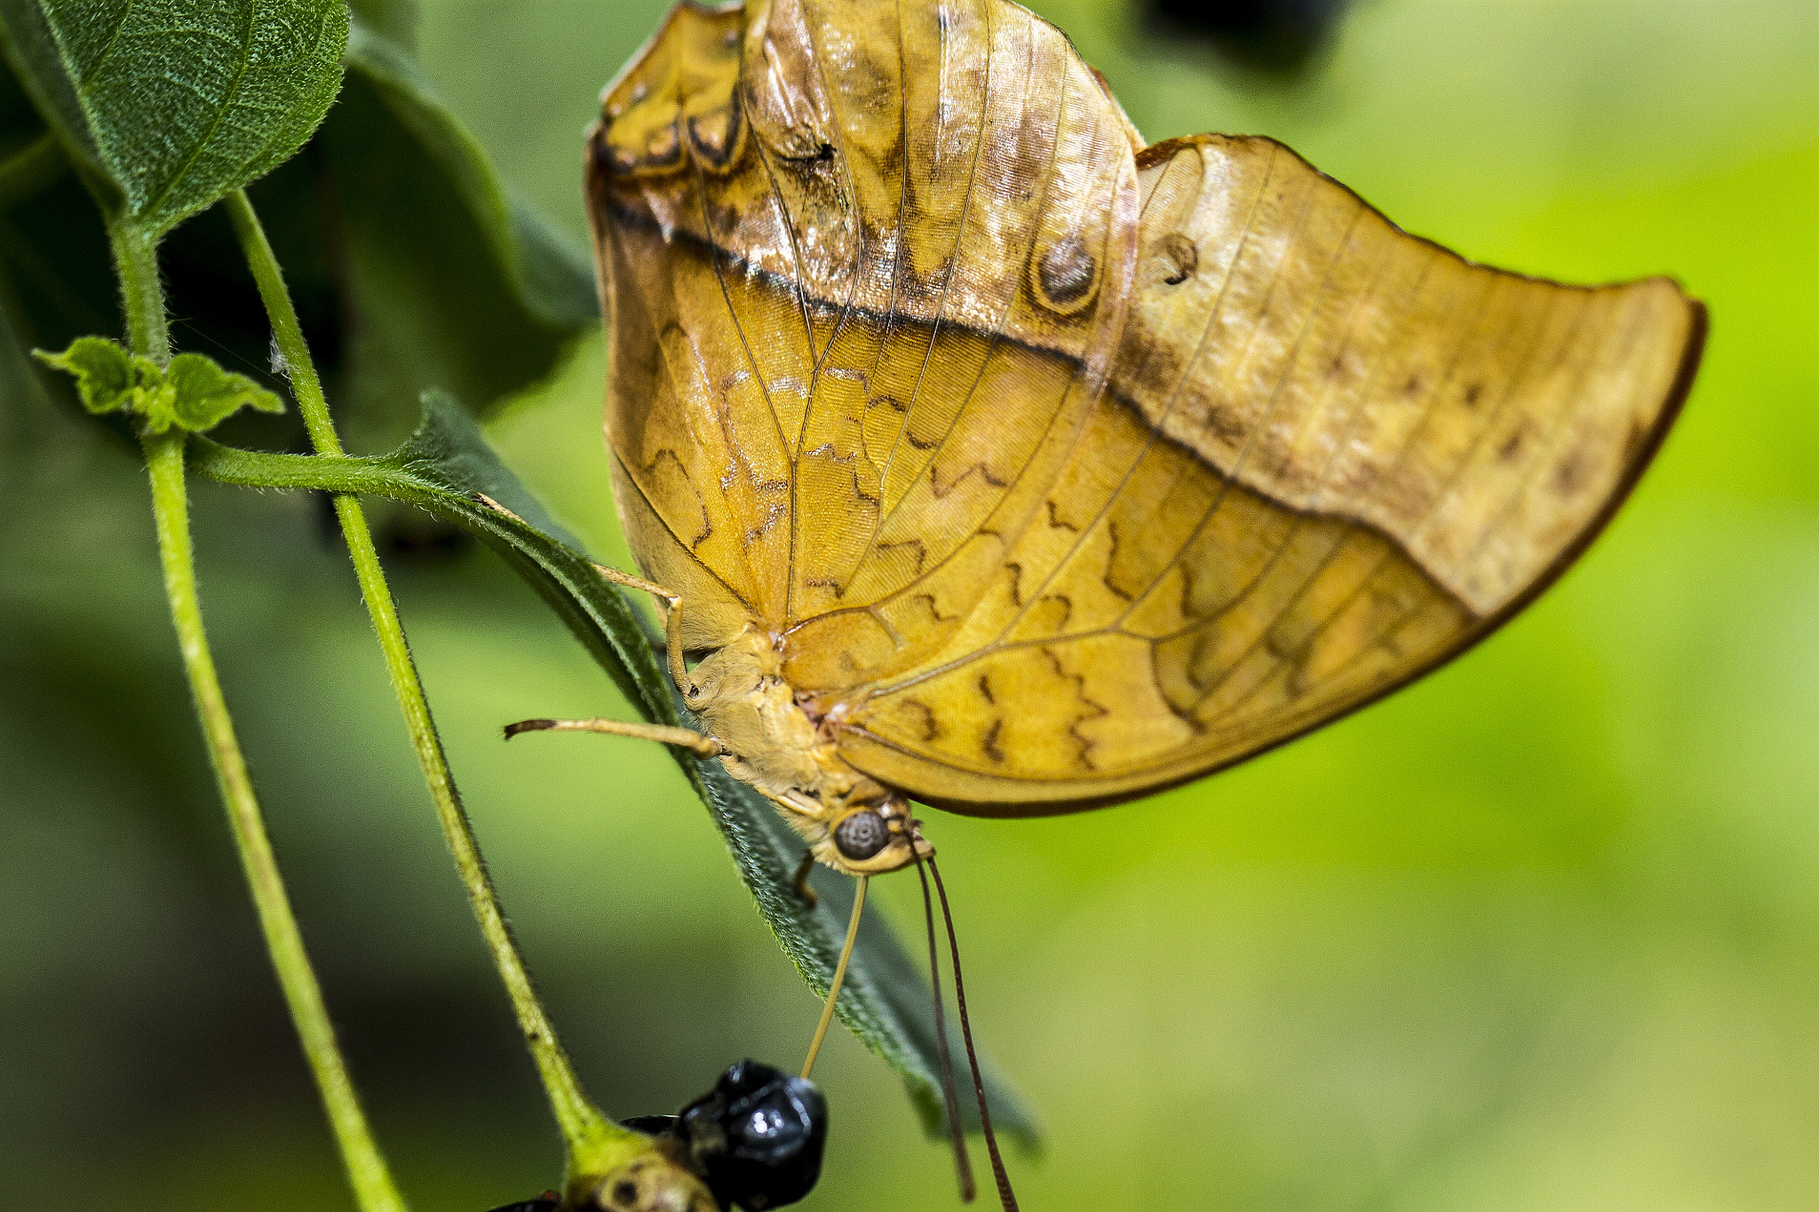
<svg viewBox="0 0 1819 1212">
<path fill-rule="evenodd" d="M 726 745 L 733 778 L 769 798 L 819 861 L 853 876 L 911 863 L 908 801 L 840 758 L 782 671 L 779 638 L 751 625 L 697 665 L 682 694 Z"/>
</svg>

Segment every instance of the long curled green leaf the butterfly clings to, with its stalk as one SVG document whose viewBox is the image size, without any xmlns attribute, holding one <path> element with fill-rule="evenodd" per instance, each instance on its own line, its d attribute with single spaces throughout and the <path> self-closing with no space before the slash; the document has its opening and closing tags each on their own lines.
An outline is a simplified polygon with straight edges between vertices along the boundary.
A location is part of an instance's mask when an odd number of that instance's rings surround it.
<svg viewBox="0 0 1819 1212">
<path fill-rule="evenodd" d="M 442 398 L 426 403 L 417 434 L 380 458 L 255 454 L 198 440 L 191 445 L 191 469 L 226 483 L 389 496 L 471 531 L 542 594 L 646 720 L 691 725 L 657 656 L 658 636 L 618 587 L 602 578 L 549 520 L 466 412 Z M 853 883 L 817 869 L 813 883 L 820 903 L 806 907 L 791 889 L 802 843 L 769 801 L 719 761 L 700 761 L 678 749 L 671 754 L 720 827 L 777 941 L 809 987 L 826 994 L 853 905 Z M 839 1012 L 904 1076 L 924 1123 L 935 1132 L 942 1099 L 935 1078 L 931 994 L 880 914 L 868 914 L 860 925 Z M 959 1056 L 960 1041 L 951 1034 Z M 1033 1145 L 1030 1112 L 990 1063 L 986 1092 L 995 1127 Z M 960 1107 L 962 1118 L 977 1127 L 971 1099 L 962 1098 Z"/>
</svg>

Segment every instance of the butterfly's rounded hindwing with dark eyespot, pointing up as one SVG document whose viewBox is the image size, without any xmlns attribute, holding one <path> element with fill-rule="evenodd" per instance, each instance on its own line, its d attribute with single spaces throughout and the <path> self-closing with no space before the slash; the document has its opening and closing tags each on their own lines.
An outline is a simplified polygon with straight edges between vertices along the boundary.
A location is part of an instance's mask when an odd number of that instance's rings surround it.
<svg viewBox="0 0 1819 1212">
<path fill-rule="evenodd" d="M 691 647 L 755 620 L 831 690 L 951 640 L 1111 374 L 1137 145 L 1004 0 L 669 16 L 589 194 L 620 516 Z"/>
</svg>

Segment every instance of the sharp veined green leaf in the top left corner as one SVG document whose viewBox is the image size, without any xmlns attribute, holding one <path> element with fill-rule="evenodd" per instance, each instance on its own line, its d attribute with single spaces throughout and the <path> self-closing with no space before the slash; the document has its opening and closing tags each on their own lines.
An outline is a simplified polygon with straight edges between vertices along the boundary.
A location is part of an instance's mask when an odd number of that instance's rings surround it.
<svg viewBox="0 0 1819 1212">
<path fill-rule="evenodd" d="M 0 0 L 5 58 L 102 207 L 158 236 L 289 160 L 340 85 L 344 0 Z"/>
</svg>

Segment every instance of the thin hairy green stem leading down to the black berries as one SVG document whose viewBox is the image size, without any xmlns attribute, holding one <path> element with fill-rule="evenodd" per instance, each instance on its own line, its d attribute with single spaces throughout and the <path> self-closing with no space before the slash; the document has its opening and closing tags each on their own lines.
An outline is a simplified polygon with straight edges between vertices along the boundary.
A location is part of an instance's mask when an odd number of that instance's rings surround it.
<svg viewBox="0 0 1819 1212">
<path fill-rule="evenodd" d="M 266 240 L 258 214 L 253 211 L 253 204 L 247 200 L 244 189 L 227 194 L 226 205 L 235 234 L 240 238 L 240 249 L 253 271 L 253 280 L 258 283 L 266 314 L 271 318 L 273 340 L 276 340 L 278 353 L 284 354 L 289 367 L 291 394 L 296 398 L 296 409 L 302 412 L 309 440 L 318 454 L 340 454 L 342 445 L 329 418 L 327 400 L 322 394 L 322 380 L 317 376 L 309 345 L 304 342 L 304 329 L 296 320 L 296 309 L 291 305 L 291 294 L 284 285 L 284 273 L 271 251 L 271 243 Z M 411 732 L 417 761 L 424 769 L 429 796 L 437 805 L 442 834 L 455 856 L 455 869 L 467 887 L 475 918 L 480 921 L 480 934 L 493 952 L 493 965 L 498 969 L 498 976 L 506 983 L 506 992 L 511 996 L 518 1027 L 524 1030 L 531 1058 L 537 1061 L 544 1090 L 549 1094 L 549 1107 L 562 1128 L 562 1136 L 568 1139 L 571 1157 L 580 1159 L 586 1156 L 595 1159 L 600 1156 L 602 1147 L 613 1152 L 609 1148 L 613 1143 L 642 1141 L 642 1137 L 606 1119 L 588 1101 L 568 1052 L 562 1050 L 562 1043 L 549 1027 L 549 1016 L 544 1014 L 542 1001 L 538 1001 L 537 990 L 531 985 L 531 976 L 518 954 L 517 941 L 511 938 L 511 929 L 506 925 L 506 914 L 498 905 L 493 878 L 480 858 L 473 825 L 467 820 L 466 809 L 462 809 L 460 794 L 449 774 L 447 754 L 442 750 L 442 738 L 437 734 L 437 725 L 429 716 L 424 683 L 417 672 L 417 661 L 411 658 L 411 647 L 404 638 L 398 609 L 391 600 L 391 591 L 386 587 L 386 572 L 378 563 L 366 512 L 360 509 L 357 496 L 337 494 L 333 500 L 335 514 L 340 518 L 342 534 L 347 540 L 347 552 L 353 556 L 360 594 L 366 598 L 373 629 L 378 632 L 378 647 L 386 654 L 391 689 L 404 709 L 404 723 Z"/>
</svg>

